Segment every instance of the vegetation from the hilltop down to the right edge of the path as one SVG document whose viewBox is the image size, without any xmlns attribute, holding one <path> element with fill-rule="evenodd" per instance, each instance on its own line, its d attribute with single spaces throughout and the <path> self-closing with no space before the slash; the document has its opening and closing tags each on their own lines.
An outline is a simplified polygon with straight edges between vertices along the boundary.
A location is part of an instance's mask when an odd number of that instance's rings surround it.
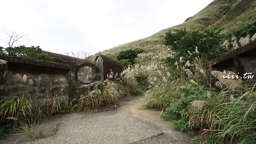
<svg viewBox="0 0 256 144">
<path fill-rule="evenodd" d="M 255 143 L 255 85 L 237 79 L 219 79 L 223 73 L 212 71 L 218 79 L 214 78 L 210 68 L 202 67 L 214 54 L 203 53 L 204 48 L 198 50 L 200 44 L 188 37 L 189 33 L 225 27 L 219 33 L 221 37 L 206 37 L 216 41 L 206 51 L 218 47 L 223 51 L 217 53 L 222 54 L 255 39 L 255 13 L 255 0 L 215 0 L 180 25 L 102 54 L 116 58 L 127 49 L 144 49 L 135 59 L 136 64 L 124 70 L 124 74 L 134 81 L 148 78 L 151 89 L 145 107 L 163 110 L 161 117 L 172 121 L 176 128 L 182 131 L 199 128 L 199 139 L 207 143 Z M 168 34 L 181 34 L 185 28 L 187 32 L 169 44 L 163 39 Z M 187 50 L 193 55 L 185 54 Z M 161 59 L 172 68 L 163 65 Z"/>
</svg>

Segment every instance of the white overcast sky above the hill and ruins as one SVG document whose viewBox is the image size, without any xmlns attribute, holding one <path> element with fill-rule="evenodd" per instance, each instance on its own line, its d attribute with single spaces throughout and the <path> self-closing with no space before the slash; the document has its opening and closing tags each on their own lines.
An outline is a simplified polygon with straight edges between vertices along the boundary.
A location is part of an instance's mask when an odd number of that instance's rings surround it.
<svg viewBox="0 0 256 144">
<path fill-rule="evenodd" d="M 27 34 L 23 44 L 49 52 L 94 54 L 178 25 L 212 1 L 1 0 L 0 46 L 7 46 L 5 31 Z"/>
</svg>

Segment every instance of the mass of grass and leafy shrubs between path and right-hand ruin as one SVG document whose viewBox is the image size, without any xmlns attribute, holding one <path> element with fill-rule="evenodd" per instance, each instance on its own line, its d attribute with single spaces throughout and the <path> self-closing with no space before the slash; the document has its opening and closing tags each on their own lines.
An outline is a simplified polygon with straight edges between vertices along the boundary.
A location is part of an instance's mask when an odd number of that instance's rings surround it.
<svg viewBox="0 0 256 144">
<path fill-rule="evenodd" d="M 204 137 L 208 143 L 255 143 L 255 85 L 220 80 L 226 88 L 219 92 L 200 60 L 195 59 L 189 68 L 182 65 L 172 68 L 172 74 L 178 76 L 174 80 L 158 81 L 145 107 L 164 109 L 161 118 L 171 121 L 181 131 L 201 128 L 207 132 Z M 175 69 L 179 73 L 174 73 Z M 216 78 L 224 74 L 211 73 Z"/>
</svg>

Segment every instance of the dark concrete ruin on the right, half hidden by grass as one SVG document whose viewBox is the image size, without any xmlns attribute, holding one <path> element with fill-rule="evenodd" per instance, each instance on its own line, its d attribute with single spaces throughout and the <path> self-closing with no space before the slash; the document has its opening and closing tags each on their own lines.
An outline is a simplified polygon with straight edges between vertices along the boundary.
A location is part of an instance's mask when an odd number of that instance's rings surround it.
<svg viewBox="0 0 256 144">
<path fill-rule="evenodd" d="M 233 71 L 243 81 L 255 84 L 256 40 L 212 60 L 209 65 L 212 66 L 213 70 Z M 248 77 L 252 75 L 254 75 L 253 78 Z"/>
</svg>

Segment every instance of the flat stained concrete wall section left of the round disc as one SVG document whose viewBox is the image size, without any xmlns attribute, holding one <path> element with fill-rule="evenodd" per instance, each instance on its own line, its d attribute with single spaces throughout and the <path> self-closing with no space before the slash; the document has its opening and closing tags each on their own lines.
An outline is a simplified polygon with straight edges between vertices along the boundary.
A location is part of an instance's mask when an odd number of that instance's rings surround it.
<svg viewBox="0 0 256 144">
<path fill-rule="evenodd" d="M 1 99 L 24 95 L 31 98 L 34 106 L 51 100 L 55 92 L 59 92 L 58 100 L 68 99 L 70 65 L 3 55 L 0 55 L 0 59 L 8 61 L 1 65 Z M 9 76 L 4 73 L 9 73 Z M 26 76 L 26 79 L 17 79 L 17 76 Z"/>
</svg>

